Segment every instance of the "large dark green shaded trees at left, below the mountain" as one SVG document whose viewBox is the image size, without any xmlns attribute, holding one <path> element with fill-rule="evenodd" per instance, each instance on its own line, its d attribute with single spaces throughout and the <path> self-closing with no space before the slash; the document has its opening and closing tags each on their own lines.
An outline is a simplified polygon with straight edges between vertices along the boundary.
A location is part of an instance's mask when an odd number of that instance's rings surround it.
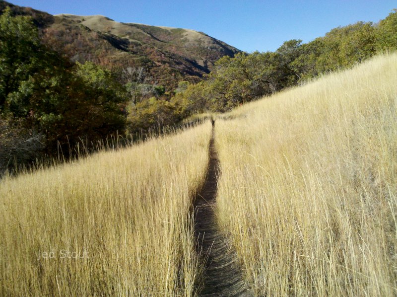
<svg viewBox="0 0 397 297">
<path fill-rule="evenodd" d="M 0 73 L 2 167 L 125 129 L 123 89 L 112 74 L 60 57 L 29 17 L 9 9 L 0 16 Z"/>
</svg>

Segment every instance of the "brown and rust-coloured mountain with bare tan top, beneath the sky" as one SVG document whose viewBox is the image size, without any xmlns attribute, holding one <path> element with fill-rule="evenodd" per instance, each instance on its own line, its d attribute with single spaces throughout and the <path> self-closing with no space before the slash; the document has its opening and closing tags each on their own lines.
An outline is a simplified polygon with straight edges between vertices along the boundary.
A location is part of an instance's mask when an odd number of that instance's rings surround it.
<svg viewBox="0 0 397 297">
<path fill-rule="evenodd" d="M 103 15 L 51 15 L 0 1 L 15 14 L 31 15 L 43 42 L 72 61 L 92 61 L 113 70 L 143 67 L 152 82 L 167 90 L 181 80 L 197 82 L 215 61 L 240 50 L 190 29 L 121 23 Z"/>
</svg>

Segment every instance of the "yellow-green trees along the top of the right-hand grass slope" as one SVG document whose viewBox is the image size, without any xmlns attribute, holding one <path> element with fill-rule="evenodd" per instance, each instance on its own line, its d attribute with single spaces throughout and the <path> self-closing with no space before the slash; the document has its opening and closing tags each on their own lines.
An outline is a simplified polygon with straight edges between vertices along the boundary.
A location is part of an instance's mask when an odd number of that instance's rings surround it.
<svg viewBox="0 0 397 297">
<path fill-rule="evenodd" d="M 357 22 L 337 27 L 302 44 L 284 42 L 274 52 L 223 57 L 198 84 L 171 99 L 179 113 L 227 111 L 239 104 L 280 91 L 313 77 L 346 69 L 379 52 L 397 49 L 397 10 L 379 23 Z"/>
</svg>

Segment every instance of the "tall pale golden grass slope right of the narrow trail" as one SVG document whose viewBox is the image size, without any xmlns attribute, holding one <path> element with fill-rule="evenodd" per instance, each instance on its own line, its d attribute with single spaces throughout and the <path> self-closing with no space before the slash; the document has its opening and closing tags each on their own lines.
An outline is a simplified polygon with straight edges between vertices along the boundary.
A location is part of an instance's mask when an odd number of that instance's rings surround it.
<svg viewBox="0 0 397 297">
<path fill-rule="evenodd" d="M 264 296 L 397 295 L 397 55 L 218 120 L 218 221 Z"/>
</svg>

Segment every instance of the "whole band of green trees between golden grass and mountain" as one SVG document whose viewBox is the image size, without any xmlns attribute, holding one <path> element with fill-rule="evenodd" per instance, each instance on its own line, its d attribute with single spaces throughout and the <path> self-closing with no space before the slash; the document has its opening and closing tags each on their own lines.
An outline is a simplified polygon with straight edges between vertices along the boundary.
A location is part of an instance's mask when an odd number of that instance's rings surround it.
<svg viewBox="0 0 397 297">
<path fill-rule="evenodd" d="M 6 168 L 67 151 L 82 141 L 148 133 L 201 112 L 231 108 L 351 67 L 397 47 L 397 10 L 379 23 L 332 29 L 275 52 L 223 57 L 202 81 L 175 90 L 157 85 L 143 68 L 110 71 L 73 63 L 41 39 L 32 18 L 0 15 L 0 174 Z"/>
</svg>

